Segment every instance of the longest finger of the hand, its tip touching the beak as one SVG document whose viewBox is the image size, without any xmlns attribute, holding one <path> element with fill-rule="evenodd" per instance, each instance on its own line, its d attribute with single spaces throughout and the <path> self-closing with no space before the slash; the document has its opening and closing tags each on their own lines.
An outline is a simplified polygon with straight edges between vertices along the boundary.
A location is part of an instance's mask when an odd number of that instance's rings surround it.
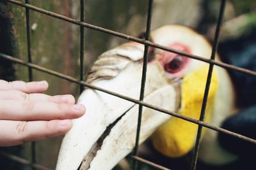
<svg viewBox="0 0 256 170">
<path fill-rule="evenodd" d="M 79 118 L 85 112 L 83 104 L 0 100 L 2 120 L 53 120 Z"/>
</svg>

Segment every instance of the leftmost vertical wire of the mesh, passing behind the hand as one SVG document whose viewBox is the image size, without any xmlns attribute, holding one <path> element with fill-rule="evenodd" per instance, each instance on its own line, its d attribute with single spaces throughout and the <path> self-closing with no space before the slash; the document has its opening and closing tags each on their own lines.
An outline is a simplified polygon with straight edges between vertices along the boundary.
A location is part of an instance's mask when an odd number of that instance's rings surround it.
<svg viewBox="0 0 256 170">
<path fill-rule="evenodd" d="M 26 4 L 29 4 L 29 0 L 25 0 Z M 29 8 L 26 9 L 26 31 L 27 31 L 27 46 L 28 46 L 28 62 L 32 63 L 31 58 L 31 35 L 30 35 L 30 16 L 29 16 Z M 32 68 L 28 67 L 28 77 L 29 81 L 33 81 L 33 73 Z M 32 163 L 36 163 L 36 142 L 31 143 L 31 157 L 32 157 Z M 33 167 L 35 169 L 35 167 Z"/>
</svg>

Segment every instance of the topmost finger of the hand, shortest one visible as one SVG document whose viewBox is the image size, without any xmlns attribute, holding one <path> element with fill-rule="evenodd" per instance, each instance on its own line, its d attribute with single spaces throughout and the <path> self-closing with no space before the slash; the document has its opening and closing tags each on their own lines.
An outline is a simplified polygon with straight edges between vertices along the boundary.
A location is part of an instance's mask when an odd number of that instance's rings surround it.
<svg viewBox="0 0 256 170">
<path fill-rule="evenodd" d="M 48 89 L 47 81 L 4 81 L 0 80 L 0 90 L 20 90 L 25 93 L 40 93 Z"/>
</svg>

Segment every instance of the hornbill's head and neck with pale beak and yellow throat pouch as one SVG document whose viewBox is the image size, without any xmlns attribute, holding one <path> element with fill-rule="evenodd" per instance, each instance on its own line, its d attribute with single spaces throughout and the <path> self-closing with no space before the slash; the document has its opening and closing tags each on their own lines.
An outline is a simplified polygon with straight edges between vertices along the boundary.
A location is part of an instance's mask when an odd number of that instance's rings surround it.
<svg viewBox="0 0 256 170">
<path fill-rule="evenodd" d="M 165 25 L 151 32 L 151 41 L 209 59 L 212 47 L 192 29 Z M 144 45 L 127 42 L 102 53 L 88 74 L 88 83 L 138 99 Z M 216 55 L 216 60 L 220 60 Z M 209 64 L 149 48 L 146 103 L 198 119 Z M 220 127 L 237 110 L 234 87 L 225 69 L 215 66 L 205 122 Z M 86 114 L 74 120 L 62 141 L 56 169 L 111 169 L 132 151 L 138 104 L 93 89 L 78 99 Z M 150 137 L 154 148 L 168 157 L 181 157 L 195 145 L 198 125 L 143 107 L 140 143 Z M 237 159 L 223 150 L 218 133 L 203 130 L 199 159 L 207 164 L 227 164 Z"/>
</svg>

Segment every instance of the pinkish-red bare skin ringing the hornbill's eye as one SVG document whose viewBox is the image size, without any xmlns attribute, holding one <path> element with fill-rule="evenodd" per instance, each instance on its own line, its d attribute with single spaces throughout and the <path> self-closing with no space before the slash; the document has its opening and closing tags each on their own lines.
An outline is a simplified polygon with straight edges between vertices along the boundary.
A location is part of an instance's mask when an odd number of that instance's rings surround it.
<svg viewBox="0 0 256 170">
<path fill-rule="evenodd" d="M 179 50 L 181 52 L 186 52 L 186 53 L 191 52 L 191 50 L 188 48 L 188 46 L 182 45 L 180 43 L 173 43 L 171 45 L 168 45 L 168 47 L 173 48 L 175 50 Z M 161 62 L 162 66 L 164 67 L 164 66 L 166 66 L 166 64 L 170 63 L 178 55 L 179 54 L 177 54 L 177 53 L 164 51 L 163 54 L 161 55 L 161 57 L 159 57 L 159 61 Z M 189 63 L 190 59 L 188 57 L 185 57 L 182 55 L 179 55 L 179 56 L 183 57 L 182 65 L 180 66 L 180 69 L 178 69 L 176 73 L 168 73 L 168 71 L 165 70 L 170 78 L 182 77 L 184 75 L 186 69 L 188 68 L 188 63 Z"/>
</svg>

